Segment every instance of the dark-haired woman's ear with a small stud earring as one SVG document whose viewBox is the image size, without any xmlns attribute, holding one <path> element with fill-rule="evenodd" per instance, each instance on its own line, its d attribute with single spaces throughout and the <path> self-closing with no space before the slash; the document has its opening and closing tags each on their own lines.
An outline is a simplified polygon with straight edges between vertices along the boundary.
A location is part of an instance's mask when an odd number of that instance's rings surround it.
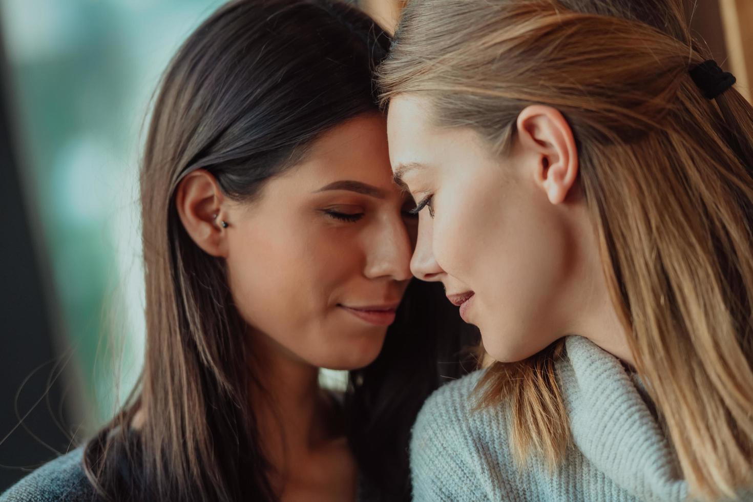
<svg viewBox="0 0 753 502">
<path fill-rule="evenodd" d="M 188 174 L 175 190 L 178 217 L 188 236 L 207 254 L 227 257 L 227 231 L 221 222 L 224 196 L 217 179 L 205 169 Z"/>
</svg>

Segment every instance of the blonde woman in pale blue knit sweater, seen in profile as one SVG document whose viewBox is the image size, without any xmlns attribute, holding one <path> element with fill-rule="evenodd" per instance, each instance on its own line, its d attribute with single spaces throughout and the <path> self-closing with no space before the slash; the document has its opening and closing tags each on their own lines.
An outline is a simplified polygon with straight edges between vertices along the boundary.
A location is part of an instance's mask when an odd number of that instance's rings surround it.
<svg viewBox="0 0 753 502">
<path fill-rule="evenodd" d="M 413 0 L 380 69 L 411 263 L 491 367 L 414 500 L 753 500 L 753 109 L 681 2 Z"/>
</svg>

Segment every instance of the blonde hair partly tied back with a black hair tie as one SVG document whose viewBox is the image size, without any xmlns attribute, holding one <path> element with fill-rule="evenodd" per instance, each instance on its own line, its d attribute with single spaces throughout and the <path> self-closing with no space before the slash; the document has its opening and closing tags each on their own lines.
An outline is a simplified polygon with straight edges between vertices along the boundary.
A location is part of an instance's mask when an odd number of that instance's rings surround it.
<svg viewBox="0 0 753 502">
<path fill-rule="evenodd" d="M 422 93 L 501 154 L 527 105 L 562 111 L 636 369 L 691 494 L 716 499 L 753 473 L 753 108 L 703 97 L 705 59 L 679 0 L 412 0 L 379 79 L 383 102 Z M 519 460 L 569 445 L 563 353 L 481 382 L 483 404 L 511 404 Z"/>
</svg>

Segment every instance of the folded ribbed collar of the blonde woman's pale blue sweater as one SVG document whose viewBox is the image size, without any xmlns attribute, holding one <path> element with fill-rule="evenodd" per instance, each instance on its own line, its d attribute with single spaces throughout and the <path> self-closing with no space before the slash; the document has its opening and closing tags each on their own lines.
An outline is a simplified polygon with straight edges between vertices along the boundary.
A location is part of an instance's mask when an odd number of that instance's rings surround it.
<svg viewBox="0 0 753 502">
<path fill-rule="evenodd" d="M 672 447 L 620 361 L 581 336 L 566 348 L 558 374 L 575 446 L 641 500 L 686 500 Z"/>
</svg>

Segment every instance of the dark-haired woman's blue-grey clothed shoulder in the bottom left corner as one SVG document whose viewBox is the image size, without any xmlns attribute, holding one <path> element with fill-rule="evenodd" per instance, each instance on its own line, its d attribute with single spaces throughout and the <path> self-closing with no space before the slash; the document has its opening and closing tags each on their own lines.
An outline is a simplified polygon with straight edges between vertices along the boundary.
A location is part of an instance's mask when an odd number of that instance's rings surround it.
<svg viewBox="0 0 753 502">
<path fill-rule="evenodd" d="M 95 500 L 84 473 L 83 447 L 55 458 L 0 495 L 0 502 L 53 502 Z"/>
</svg>

